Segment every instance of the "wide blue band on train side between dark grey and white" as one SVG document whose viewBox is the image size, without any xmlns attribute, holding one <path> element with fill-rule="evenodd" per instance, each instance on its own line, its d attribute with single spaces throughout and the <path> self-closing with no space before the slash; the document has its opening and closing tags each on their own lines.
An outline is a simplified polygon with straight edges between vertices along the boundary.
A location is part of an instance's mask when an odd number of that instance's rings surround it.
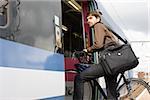
<svg viewBox="0 0 150 100">
<path fill-rule="evenodd" d="M 64 71 L 64 56 L 0 39 L 0 66 Z"/>
</svg>

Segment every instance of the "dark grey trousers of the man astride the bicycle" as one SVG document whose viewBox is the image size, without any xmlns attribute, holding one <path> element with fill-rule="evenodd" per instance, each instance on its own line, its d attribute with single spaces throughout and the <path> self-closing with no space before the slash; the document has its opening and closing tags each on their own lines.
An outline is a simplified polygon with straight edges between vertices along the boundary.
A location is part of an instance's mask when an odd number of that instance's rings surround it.
<svg viewBox="0 0 150 100">
<path fill-rule="evenodd" d="M 117 76 L 106 76 L 101 64 L 89 64 L 89 67 L 77 74 L 74 79 L 73 100 L 83 100 L 84 82 L 104 76 L 108 100 L 117 100 Z"/>
</svg>

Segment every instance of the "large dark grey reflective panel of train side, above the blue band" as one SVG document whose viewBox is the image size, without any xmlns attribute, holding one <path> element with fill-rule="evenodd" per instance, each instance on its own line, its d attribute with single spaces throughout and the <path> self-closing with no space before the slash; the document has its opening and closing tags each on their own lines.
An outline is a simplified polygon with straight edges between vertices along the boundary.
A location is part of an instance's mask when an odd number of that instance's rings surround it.
<svg viewBox="0 0 150 100">
<path fill-rule="evenodd" d="M 4 29 L 6 22 L 2 22 L 4 17 L 1 17 L 0 33 L 3 35 L 0 34 L 0 38 L 7 39 L 6 34 L 13 34 L 15 42 L 54 52 L 53 18 L 56 15 L 61 19 L 61 1 L 9 0 L 9 7 L 10 24 Z"/>
</svg>

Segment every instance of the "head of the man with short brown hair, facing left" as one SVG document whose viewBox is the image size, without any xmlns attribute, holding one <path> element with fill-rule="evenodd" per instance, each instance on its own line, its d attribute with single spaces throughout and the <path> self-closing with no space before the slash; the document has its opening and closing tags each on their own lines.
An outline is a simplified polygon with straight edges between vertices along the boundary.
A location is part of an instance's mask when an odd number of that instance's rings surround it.
<svg viewBox="0 0 150 100">
<path fill-rule="evenodd" d="M 87 23 L 92 27 L 95 23 L 101 21 L 101 12 L 91 11 L 87 16 Z"/>
</svg>

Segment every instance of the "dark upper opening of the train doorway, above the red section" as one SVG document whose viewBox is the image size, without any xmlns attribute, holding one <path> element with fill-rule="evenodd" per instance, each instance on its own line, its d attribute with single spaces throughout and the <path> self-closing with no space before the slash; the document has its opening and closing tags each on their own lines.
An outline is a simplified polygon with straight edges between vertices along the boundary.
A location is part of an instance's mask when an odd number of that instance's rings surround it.
<svg viewBox="0 0 150 100">
<path fill-rule="evenodd" d="M 73 51 L 82 50 L 84 46 L 82 14 L 65 1 L 62 1 L 62 25 L 64 56 L 71 57 Z"/>
</svg>

